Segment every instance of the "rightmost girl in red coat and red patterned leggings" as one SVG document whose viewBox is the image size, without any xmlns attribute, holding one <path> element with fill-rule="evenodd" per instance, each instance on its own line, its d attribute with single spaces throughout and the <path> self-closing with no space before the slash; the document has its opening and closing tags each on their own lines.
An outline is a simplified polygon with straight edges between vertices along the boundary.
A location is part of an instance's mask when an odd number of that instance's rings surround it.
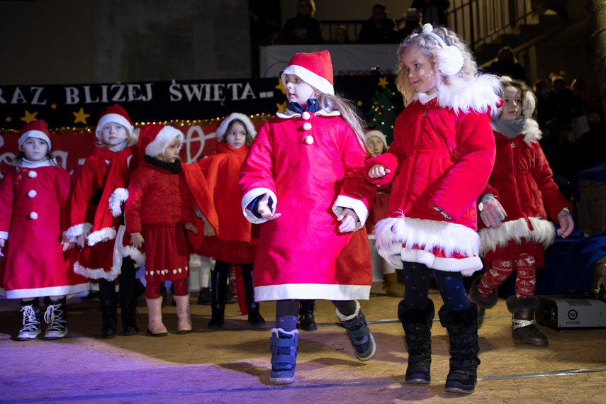
<svg viewBox="0 0 606 404">
<path fill-rule="evenodd" d="M 512 336 L 534 346 L 547 345 L 547 337 L 534 325 L 537 268 L 544 266 L 544 249 L 558 235 L 571 234 L 572 205 L 560 193 L 543 154 L 537 121 L 532 119 L 536 99 L 523 82 L 503 77 L 503 108 L 494 118 L 497 157 L 495 168 L 478 208 L 481 252 L 486 273 L 473 281 L 469 297 L 480 310 L 498 301 L 496 289 L 516 271 L 515 296 L 507 298 L 512 313 Z"/>
</svg>

